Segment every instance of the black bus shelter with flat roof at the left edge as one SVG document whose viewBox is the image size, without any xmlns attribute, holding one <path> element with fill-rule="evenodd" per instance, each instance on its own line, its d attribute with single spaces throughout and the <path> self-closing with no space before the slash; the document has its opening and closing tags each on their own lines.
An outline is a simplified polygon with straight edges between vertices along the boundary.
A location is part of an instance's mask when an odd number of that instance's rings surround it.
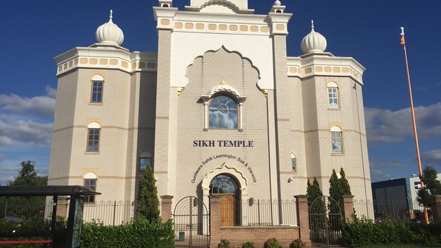
<svg viewBox="0 0 441 248">
<path fill-rule="evenodd" d="M 79 247 L 81 223 L 83 222 L 83 197 L 100 195 L 88 187 L 79 185 L 48 185 L 48 186 L 0 186 L 0 196 L 52 196 L 51 234 L 55 231 L 57 220 L 57 203 L 59 196 L 70 196 L 66 247 Z M 81 216 L 80 216 L 81 215 Z M 79 225 L 79 226 L 78 226 Z M 75 232 L 75 234 L 74 234 Z M 76 244 L 78 242 L 78 244 Z"/>
</svg>

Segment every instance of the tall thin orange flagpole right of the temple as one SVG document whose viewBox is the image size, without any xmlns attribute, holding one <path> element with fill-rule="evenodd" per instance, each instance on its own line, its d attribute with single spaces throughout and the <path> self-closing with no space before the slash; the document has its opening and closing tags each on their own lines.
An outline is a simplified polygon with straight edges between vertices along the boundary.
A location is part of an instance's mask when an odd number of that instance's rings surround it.
<svg viewBox="0 0 441 248">
<path fill-rule="evenodd" d="M 418 145 L 418 133 L 416 132 L 415 110 L 413 109 L 411 76 L 409 74 L 409 63 L 407 61 L 406 41 L 404 39 L 404 28 L 403 27 L 401 27 L 401 44 L 402 44 L 402 46 L 404 48 L 404 57 L 406 59 L 407 81 L 409 83 L 409 96 L 410 96 L 410 99 L 411 99 L 411 112 L 412 112 L 412 122 L 413 122 L 413 136 L 415 137 L 415 147 L 416 147 L 416 160 L 418 161 L 418 169 L 420 169 L 421 188 L 424 188 L 424 182 L 422 181 L 422 167 L 421 167 L 421 158 L 420 158 L 420 146 Z M 424 206 L 424 220 L 425 220 L 426 225 L 429 224 L 429 216 L 427 214 L 427 207 L 425 207 L 425 206 Z"/>
</svg>

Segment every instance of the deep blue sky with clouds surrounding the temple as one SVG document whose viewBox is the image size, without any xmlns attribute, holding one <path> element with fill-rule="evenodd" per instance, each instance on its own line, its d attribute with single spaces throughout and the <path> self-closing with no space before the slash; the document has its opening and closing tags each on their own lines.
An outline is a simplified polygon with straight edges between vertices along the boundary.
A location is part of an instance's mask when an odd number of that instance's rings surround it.
<svg viewBox="0 0 441 248">
<path fill-rule="evenodd" d="M 373 181 L 418 174 L 409 92 L 400 45 L 406 28 L 422 163 L 441 171 L 441 41 L 439 0 L 281 0 L 294 13 L 288 56 L 299 56 L 311 30 L 327 38 L 327 52 L 352 56 L 367 68 L 363 87 Z M 267 14 L 274 1 L 250 0 Z M 154 52 L 152 4 L 157 1 L 0 1 L 0 184 L 17 176 L 20 162 L 36 161 L 48 173 L 57 89 L 53 57 L 95 43 L 99 25 L 114 23 L 130 51 Z M 174 0 L 183 10 L 189 0 Z"/>
</svg>

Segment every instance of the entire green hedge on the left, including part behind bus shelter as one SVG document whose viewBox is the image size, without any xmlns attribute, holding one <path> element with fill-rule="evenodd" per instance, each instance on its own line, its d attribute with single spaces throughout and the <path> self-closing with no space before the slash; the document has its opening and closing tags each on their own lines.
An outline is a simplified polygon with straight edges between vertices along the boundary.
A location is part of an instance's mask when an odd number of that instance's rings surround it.
<svg viewBox="0 0 441 248">
<path fill-rule="evenodd" d="M 23 237 L 33 234 L 50 234 L 50 220 L 34 218 L 13 223 L 0 219 L 0 240 L 34 240 Z M 14 235 L 13 237 L 6 237 Z M 42 235 L 43 236 L 43 235 Z M 65 247 L 66 223 L 57 218 L 53 237 L 54 247 Z M 5 248 L 45 247 L 41 244 L 1 245 Z M 161 223 L 161 219 L 147 220 L 139 217 L 119 226 L 105 226 L 102 223 L 84 223 L 81 230 L 81 247 L 174 247 L 174 231 L 171 220 Z"/>
</svg>

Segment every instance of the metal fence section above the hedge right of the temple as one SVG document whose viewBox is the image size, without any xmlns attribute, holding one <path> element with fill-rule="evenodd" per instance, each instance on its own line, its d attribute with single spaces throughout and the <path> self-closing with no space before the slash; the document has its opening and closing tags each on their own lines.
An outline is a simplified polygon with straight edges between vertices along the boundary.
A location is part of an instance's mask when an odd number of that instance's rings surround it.
<svg viewBox="0 0 441 248">
<path fill-rule="evenodd" d="M 358 218 L 374 220 L 424 220 L 424 207 L 418 201 L 402 200 L 353 200 L 353 208 Z"/>
</svg>

